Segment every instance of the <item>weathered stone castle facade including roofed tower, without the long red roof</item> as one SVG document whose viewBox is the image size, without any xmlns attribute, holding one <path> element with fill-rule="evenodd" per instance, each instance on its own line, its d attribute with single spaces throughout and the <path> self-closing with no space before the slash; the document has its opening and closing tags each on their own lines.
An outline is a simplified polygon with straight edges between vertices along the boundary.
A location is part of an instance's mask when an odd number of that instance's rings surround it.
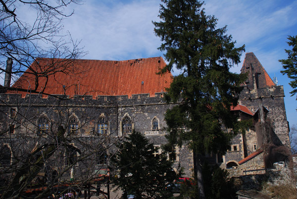
<svg viewBox="0 0 297 199">
<path fill-rule="evenodd" d="M 156 63 L 160 63 L 160 60 L 156 59 Z M 274 85 L 253 53 L 246 55 L 242 72 L 247 71 L 249 72 L 248 80 L 240 95 L 239 103 L 246 106 L 248 111 L 238 110 L 240 111 L 240 119 L 256 119 L 257 114 L 255 113 L 257 113 L 258 108 L 265 107 L 267 117 L 274 124 L 273 129 L 277 139 L 275 142 L 290 147 L 283 87 Z M 141 84 L 143 85 L 144 82 Z M 143 88 L 140 87 L 140 89 Z M 103 127 L 98 125 L 99 119 L 105 118 L 107 121 L 106 135 L 108 135 L 108 142 L 112 143 L 121 139 L 124 128 L 127 127 L 123 124 L 123 120 L 127 118 L 131 122 L 131 128 L 144 133 L 157 149 L 167 142 L 164 113 L 168 108 L 174 106 L 174 104 L 166 103 L 163 96 L 163 92 L 154 95 L 138 94 L 132 96 L 78 95 L 71 99 L 67 99 L 69 96 L 66 95 L 58 95 L 59 99 L 43 95 L 1 94 L 0 131 L 4 132 L 9 129 L 9 132 L 1 135 L 0 142 L 2 145 L 11 146 L 14 145 L 15 140 L 18 140 L 19 135 L 25 135 L 26 142 L 30 143 L 27 150 L 32 150 L 38 140 L 47 137 L 47 135 L 39 136 L 37 133 L 39 131 L 39 119 L 45 117 L 49 120 L 49 130 L 52 132 L 56 132 L 60 125 L 69 132 L 69 121 L 71 118 L 75 118 L 78 122 L 78 128 L 74 130 L 75 135 L 69 137 L 69 139 L 74 140 L 75 146 L 79 146 L 76 142 L 79 143 L 80 139 L 90 140 L 86 141 L 90 145 L 96 139 L 102 140 L 103 135 L 98 134 L 98 132 L 99 128 Z M 16 116 L 12 116 L 13 110 L 17 111 Z M 11 131 L 12 127 L 13 132 Z M 130 126 L 128 127 L 130 128 Z M 105 139 L 105 141 L 107 140 Z M 241 160 L 258 149 L 257 142 L 257 132 L 254 127 L 250 128 L 245 134 L 236 135 L 231 148 L 222 158 L 212 155 L 213 163 L 220 163 L 222 168 L 229 168 L 231 174 L 236 176 L 260 174 L 263 169 L 262 154 L 240 164 Z M 80 147 L 87 150 L 86 147 Z M 109 150 L 112 151 L 112 149 Z M 158 151 L 161 152 L 161 149 Z M 175 167 L 180 163 L 185 168 L 185 175 L 191 177 L 194 165 L 193 153 L 186 144 L 182 148 L 176 148 L 176 153 Z"/>
</svg>

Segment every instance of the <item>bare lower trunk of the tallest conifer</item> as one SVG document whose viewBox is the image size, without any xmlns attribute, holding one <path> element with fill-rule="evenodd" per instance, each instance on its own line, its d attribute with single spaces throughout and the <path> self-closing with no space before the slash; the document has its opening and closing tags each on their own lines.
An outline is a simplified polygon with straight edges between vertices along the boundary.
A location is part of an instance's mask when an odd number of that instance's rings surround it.
<svg viewBox="0 0 297 199">
<path fill-rule="evenodd" d="M 197 177 L 197 186 L 199 190 L 199 199 L 205 199 L 204 187 L 203 187 L 203 176 L 202 176 L 202 155 L 193 152 L 194 159 L 194 172 Z"/>
</svg>

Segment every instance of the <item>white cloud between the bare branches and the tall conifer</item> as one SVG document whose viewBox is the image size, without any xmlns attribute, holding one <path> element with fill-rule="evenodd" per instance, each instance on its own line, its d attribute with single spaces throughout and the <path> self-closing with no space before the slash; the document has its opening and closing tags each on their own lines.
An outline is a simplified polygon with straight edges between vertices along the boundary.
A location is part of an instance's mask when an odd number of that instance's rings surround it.
<svg viewBox="0 0 297 199">
<path fill-rule="evenodd" d="M 152 20 L 158 20 L 158 1 L 133 1 L 113 6 L 93 3 L 75 8 L 65 29 L 72 37 L 83 38 L 91 59 L 132 59 L 156 56 L 160 45 L 153 33 Z M 159 55 L 162 53 L 159 52 Z"/>
</svg>

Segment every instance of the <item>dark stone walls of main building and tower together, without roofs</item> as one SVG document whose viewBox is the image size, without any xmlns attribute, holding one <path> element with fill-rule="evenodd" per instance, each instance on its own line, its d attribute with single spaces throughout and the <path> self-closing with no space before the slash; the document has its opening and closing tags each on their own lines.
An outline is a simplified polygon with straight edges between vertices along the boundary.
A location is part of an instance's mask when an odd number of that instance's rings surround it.
<svg viewBox="0 0 297 199">
<path fill-rule="evenodd" d="M 69 118 L 75 116 L 80 124 L 78 136 L 96 136 L 98 119 L 104 116 L 108 120 L 110 137 L 118 139 L 122 135 L 121 121 L 128 116 L 133 123 L 133 129 L 144 133 L 150 142 L 158 147 L 167 142 L 164 113 L 175 105 L 166 103 L 163 96 L 164 93 L 156 93 L 154 97 L 140 94 L 132 97 L 75 96 L 68 99 L 67 96 L 55 98 L 43 95 L 1 94 L 0 99 L 4 103 L 0 104 L 0 110 L 4 114 L 1 114 L 0 118 L 2 123 L 0 131 L 7 129 L 8 124 L 13 123 L 16 126 L 16 133 L 30 135 L 31 140 L 36 140 L 37 122 L 41 116 L 49 119 L 52 131 L 55 131 L 58 125 L 66 128 Z M 273 120 L 275 134 L 283 145 L 289 146 L 289 127 L 282 86 L 254 90 L 246 88 L 240 95 L 240 104 L 247 106 L 252 113 L 256 112 L 259 104 L 265 106 L 269 110 L 267 116 Z M 18 111 L 15 118 L 9 118 L 11 108 L 16 108 Z M 26 118 L 30 119 L 26 121 Z M 153 118 L 158 120 L 158 131 L 152 131 Z M 5 134 L 5 136 L 14 137 L 16 134 Z M 232 141 L 232 145 L 237 145 L 237 150 L 231 149 L 225 154 L 225 164 L 234 160 L 238 162 L 246 157 L 253 151 L 255 140 L 256 133 L 253 129 L 248 130 L 245 135 L 237 135 Z M 185 168 L 186 176 L 192 176 L 193 153 L 186 145 L 177 150 L 176 167 L 178 163 Z"/>
</svg>

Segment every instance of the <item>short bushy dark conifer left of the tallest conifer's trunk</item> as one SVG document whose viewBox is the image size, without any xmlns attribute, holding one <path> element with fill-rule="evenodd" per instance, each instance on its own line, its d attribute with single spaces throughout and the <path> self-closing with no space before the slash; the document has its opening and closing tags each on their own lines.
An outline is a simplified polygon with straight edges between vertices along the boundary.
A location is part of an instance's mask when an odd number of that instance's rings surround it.
<svg viewBox="0 0 297 199">
<path fill-rule="evenodd" d="M 165 189 L 176 179 L 172 162 L 165 155 L 154 156 L 154 148 L 139 132 L 128 135 L 119 151 L 111 159 L 118 176 L 113 179 L 124 193 L 134 194 L 138 199 L 170 198 Z"/>
</svg>

